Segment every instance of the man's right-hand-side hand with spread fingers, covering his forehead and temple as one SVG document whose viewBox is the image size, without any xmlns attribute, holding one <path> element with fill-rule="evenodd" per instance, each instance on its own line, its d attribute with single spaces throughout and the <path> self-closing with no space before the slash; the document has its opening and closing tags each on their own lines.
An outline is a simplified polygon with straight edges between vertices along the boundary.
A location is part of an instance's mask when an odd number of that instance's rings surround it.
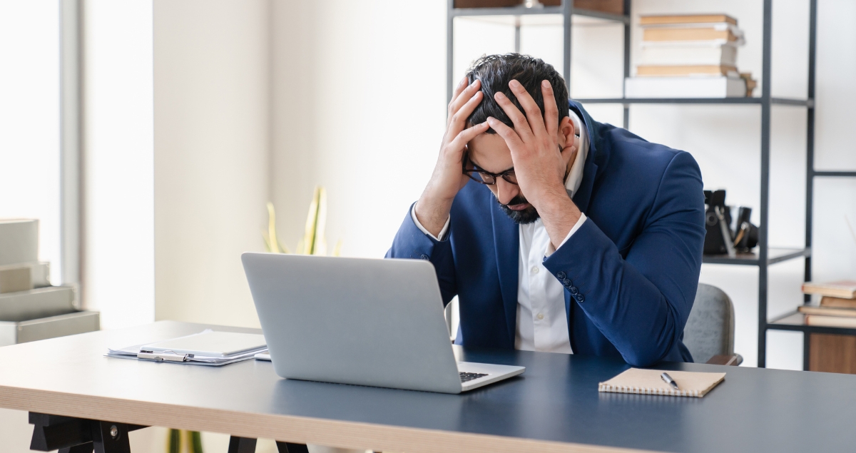
<svg viewBox="0 0 856 453">
<path fill-rule="evenodd" d="M 558 248 L 580 219 L 580 209 L 568 197 L 564 181 L 568 162 L 574 161 L 577 149 L 574 140 L 562 144 L 556 141 L 559 110 L 549 81 L 541 82 L 544 116 L 520 82 L 511 80 L 508 87 L 526 111 L 526 116 L 502 92 L 496 92 L 496 103 L 514 123 L 514 128 L 493 117 L 489 117 L 487 122 L 511 150 L 520 192 L 538 210 L 553 247 Z"/>
</svg>

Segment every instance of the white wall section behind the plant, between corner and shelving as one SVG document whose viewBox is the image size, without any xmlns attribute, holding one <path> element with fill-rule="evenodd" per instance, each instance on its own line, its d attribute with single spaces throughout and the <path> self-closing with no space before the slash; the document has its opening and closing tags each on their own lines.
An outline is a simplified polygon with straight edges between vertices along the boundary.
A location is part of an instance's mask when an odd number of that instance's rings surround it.
<svg viewBox="0 0 856 453">
<path fill-rule="evenodd" d="M 274 2 L 273 199 L 294 247 L 312 187 L 327 240 L 383 256 L 437 159 L 445 3 Z"/>
</svg>

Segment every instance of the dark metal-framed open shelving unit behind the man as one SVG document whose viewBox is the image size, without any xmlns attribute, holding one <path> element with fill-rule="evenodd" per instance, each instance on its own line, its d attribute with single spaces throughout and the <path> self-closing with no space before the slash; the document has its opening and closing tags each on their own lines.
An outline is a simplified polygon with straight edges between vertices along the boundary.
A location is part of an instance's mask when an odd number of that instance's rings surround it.
<svg viewBox="0 0 856 453">
<path fill-rule="evenodd" d="M 805 281 L 811 280 L 811 227 L 812 227 L 812 197 L 814 193 L 815 177 L 852 177 L 856 171 L 818 171 L 814 169 L 814 121 L 815 121 L 815 69 L 817 58 L 817 0 L 809 1 L 809 46 L 808 46 L 808 90 L 805 99 L 802 98 L 774 98 L 770 92 L 770 71 L 772 57 L 772 0 L 764 0 L 763 13 L 763 52 L 762 52 L 762 75 L 761 96 L 759 98 L 592 98 L 577 99 L 582 104 L 621 104 L 624 108 L 624 128 L 628 127 L 629 109 L 633 104 L 733 104 L 733 105 L 757 105 L 761 113 L 761 202 L 760 222 L 758 225 L 758 248 L 757 252 L 739 254 L 735 258 L 728 256 L 705 256 L 704 263 L 720 265 L 754 265 L 758 266 L 758 367 L 766 365 L 767 331 L 802 331 L 805 333 L 803 367 L 808 368 L 809 333 L 840 333 L 856 335 L 856 329 L 843 329 L 836 327 L 817 327 L 805 325 L 800 313 L 788 313 L 780 318 L 768 321 L 767 318 L 767 284 L 770 265 L 781 263 L 790 259 L 805 259 Z M 571 88 L 571 27 L 574 15 L 597 18 L 603 21 L 615 21 L 623 24 L 624 33 L 624 76 L 630 75 L 630 25 L 631 25 L 631 1 L 624 0 L 624 15 L 612 15 L 574 8 L 574 0 L 564 0 L 562 6 L 548 6 L 543 8 L 526 9 L 523 6 L 514 8 L 492 8 L 492 9 L 455 9 L 454 0 L 448 0 L 448 24 L 447 24 L 447 90 L 446 98 L 451 99 L 454 80 L 453 52 L 454 52 L 454 21 L 455 17 L 464 16 L 489 16 L 504 15 L 520 17 L 521 15 L 562 15 L 563 28 L 563 63 L 562 75 Z M 515 51 L 520 46 L 520 21 L 515 22 Z M 806 116 L 806 184 L 805 184 L 805 247 L 796 249 L 772 248 L 768 244 L 768 227 L 770 220 L 770 110 L 776 106 L 797 107 L 807 110 Z M 808 296 L 805 297 L 807 302 Z"/>
</svg>

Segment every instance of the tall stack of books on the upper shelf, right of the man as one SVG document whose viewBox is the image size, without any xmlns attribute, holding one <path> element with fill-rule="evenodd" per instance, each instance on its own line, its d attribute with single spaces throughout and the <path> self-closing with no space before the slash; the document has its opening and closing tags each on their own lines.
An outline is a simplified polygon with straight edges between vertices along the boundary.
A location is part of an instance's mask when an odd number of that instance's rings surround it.
<svg viewBox="0 0 856 453">
<path fill-rule="evenodd" d="M 627 98 L 733 98 L 751 96 L 752 75 L 737 69 L 745 44 L 734 17 L 646 15 L 639 18 L 642 50 Z"/>
</svg>

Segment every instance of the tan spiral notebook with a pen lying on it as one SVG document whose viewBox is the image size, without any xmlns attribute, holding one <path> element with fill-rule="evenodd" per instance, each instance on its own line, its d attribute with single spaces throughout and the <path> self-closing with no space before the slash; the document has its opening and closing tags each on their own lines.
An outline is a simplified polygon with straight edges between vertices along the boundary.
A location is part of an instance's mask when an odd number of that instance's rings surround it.
<svg viewBox="0 0 856 453">
<path fill-rule="evenodd" d="M 673 389 L 660 378 L 663 370 L 644 370 L 630 368 L 624 373 L 597 384 L 597 391 L 614 393 L 638 393 L 640 395 L 666 396 L 695 396 L 702 397 L 716 384 L 722 382 L 725 373 L 695 373 L 686 371 L 669 371 L 669 376 L 675 380 L 681 390 Z"/>
</svg>

